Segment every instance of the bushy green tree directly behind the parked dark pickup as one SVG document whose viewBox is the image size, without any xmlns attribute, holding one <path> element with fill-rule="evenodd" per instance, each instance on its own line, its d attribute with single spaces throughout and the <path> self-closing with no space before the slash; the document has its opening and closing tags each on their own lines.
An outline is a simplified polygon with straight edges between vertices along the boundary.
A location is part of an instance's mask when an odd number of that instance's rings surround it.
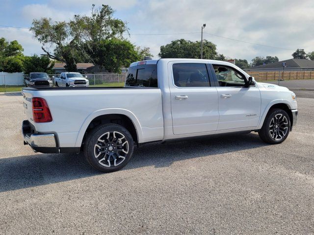
<svg viewBox="0 0 314 235">
<path fill-rule="evenodd" d="M 26 56 L 24 60 L 24 72 L 26 74 L 30 72 L 47 72 L 53 73 L 52 68 L 54 61 L 51 61 L 47 56 Z"/>
</svg>

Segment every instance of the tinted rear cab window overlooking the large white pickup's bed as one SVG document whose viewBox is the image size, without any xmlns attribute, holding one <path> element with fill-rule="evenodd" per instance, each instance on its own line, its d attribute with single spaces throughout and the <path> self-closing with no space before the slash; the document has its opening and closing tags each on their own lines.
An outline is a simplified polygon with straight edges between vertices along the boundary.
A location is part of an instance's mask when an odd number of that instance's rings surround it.
<svg viewBox="0 0 314 235">
<path fill-rule="evenodd" d="M 128 70 L 126 86 L 158 87 L 157 65 L 132 66 Z"/>
</svg>

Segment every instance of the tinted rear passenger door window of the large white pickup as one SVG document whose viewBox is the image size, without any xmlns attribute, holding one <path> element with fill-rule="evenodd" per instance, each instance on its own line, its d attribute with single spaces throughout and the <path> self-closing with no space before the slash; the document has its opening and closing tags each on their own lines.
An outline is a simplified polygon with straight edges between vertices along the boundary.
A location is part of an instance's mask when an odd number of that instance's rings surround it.
<svg viewBox="0 0 314 235">
<path fill-rule="evenodd" d="M 177 87 L 210 87 L 206 64 L 173 64 L 172 71 L 174 84 Z"/>
</svg>

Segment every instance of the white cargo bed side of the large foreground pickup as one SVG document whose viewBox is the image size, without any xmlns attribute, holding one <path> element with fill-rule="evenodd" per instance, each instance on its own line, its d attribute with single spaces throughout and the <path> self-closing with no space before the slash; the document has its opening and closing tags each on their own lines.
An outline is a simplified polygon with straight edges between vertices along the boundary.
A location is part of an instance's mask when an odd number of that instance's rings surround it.
<svg viewBox="0 0 314 235">
<path fill-rule="evenodd" d="M 28 120 L 36 126 L 36 132 L 57 132 L 60 148 L 80 148 L 92 120 L 108 114 L 131 118 L 140 143 L 163 138 L 161 91 L 158 88 L 24 88 L 23 95 L 28 117 L 32 117 L 31 97 L 45 96 L 52 122 L 47 125 L 35 123 L 32 118 Z"/>
</svg>

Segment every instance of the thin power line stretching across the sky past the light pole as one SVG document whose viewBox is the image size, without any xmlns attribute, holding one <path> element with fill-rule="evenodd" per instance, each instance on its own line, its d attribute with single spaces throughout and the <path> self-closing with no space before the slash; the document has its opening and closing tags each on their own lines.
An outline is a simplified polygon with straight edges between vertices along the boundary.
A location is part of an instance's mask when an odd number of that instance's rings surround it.
<svg viewBox="0 0 314 235">
<path fill-rule="evenodd" d="M 29 28 L 26 28 L 26 27 L 17 27 L 17 26 L 8 26 L 8 25 L 0 25 L 0 27 L 29 29 Z M 150 33 L 150 34 L 125 34 L 125 35 L 130 35 L 130 36 L 157 36 L 157 35 L 180 35 L 180 34 L 197 34 L 197 33 L 200 33 L 200 32 Z M 276 49 L 294 51 L 294 49 L 290 49 L 290 48 L 274 47 L 274 46 L 268 46 L 268 45 L 263 45 L 263 44 L 258 44 L 258 43 L 251 43 L 251 42 L 247 42 L 247 41 L 243 41 L 243 40 L 238 40 L 238 39 L 234 39 L 234 38 L 229 38 L 229 37 L 224 37 L 224 36 L 220 36 L 220 35 L 216 35 L 216 34 L 212 34 L 212 33 L 205 33 L 205 32 L 204 32 L 204 34 L 208 34 L 208 35 L 215 36 L 215 37 L 219 37 L 219 38 L 229 39 L 229 40 L 233 40 L 233 41 L 240 42 L 240 43 L 247 43 L 247 44 L 251 44 L 251 45 L 261 46 L 261 47 L 271 47 L 271 48 L 276 48 Z"/>
</svg>

